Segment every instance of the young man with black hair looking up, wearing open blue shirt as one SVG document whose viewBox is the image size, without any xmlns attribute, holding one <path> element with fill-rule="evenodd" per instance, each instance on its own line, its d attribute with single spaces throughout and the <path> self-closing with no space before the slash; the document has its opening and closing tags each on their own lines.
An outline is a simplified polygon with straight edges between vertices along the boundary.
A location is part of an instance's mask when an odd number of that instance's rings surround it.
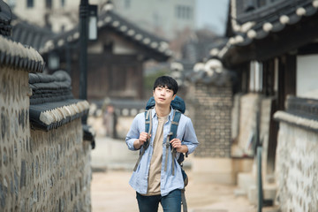
<svg viewBox="0 0 318 212">
<path fill-rule="evenodd" d="M 150 109 L 152 133 L 145 132 L 145 113 L 140 113 L 133 119 L 133 125 L 125 139 L 131 150 L 142 149 L 142 145 L 149 140 L 149 146 L 129 181 L 137 193 L 140 212 L 157 211 L 159 202 L 164 212 L 181 211 L 181 189 L 184 188 L 184 180 L 180 165 L 172 163 L 172 160 L 176 159 L 172 158 L 170 148 L 166 160 L 166 142 L 170 142 L 170 146 L 177 150 L 177 155 L 191 154 L 199 142 L 191 119 L 183 114 L 178 123 L 177 137 L 169 141 L 168 134 L 174 114 L 170 102 L 177 92 L 178 83 L 175 79 L 167 76 L 155 79 L 155 108 Z"/>
</svg>

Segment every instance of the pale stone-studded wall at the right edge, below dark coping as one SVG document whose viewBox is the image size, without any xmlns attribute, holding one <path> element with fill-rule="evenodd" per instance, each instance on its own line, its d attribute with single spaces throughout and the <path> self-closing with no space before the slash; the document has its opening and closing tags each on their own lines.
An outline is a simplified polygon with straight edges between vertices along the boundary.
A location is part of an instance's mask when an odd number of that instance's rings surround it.
<svg viewBox="0 0 318 212">
<path fill-rule="evenodd" d="M 316 100 L 316 105 L 308 107 L 308 111 L 314 112 L 317 103 Z M 318 211 L 317 118 L 307 118 L 304 112 L 285 111 L 276 112 L 275 117 L 279 120 L 276 148 L 279 206 L 282 211 Z"/>
</svg>

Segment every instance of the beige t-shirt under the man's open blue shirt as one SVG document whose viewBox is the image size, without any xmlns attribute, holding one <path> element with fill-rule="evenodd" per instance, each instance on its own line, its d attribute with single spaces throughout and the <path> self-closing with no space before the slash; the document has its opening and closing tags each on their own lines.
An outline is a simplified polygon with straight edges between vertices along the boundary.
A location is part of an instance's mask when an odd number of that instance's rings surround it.
<svg viewBox="0 0 318 212">
<path fill-rule="evenodd" d="M 167 117 L 158 117 L 158 127 L 154 139 L 154 152 L 151 157 L 149 176 L 148 176 L 148 192 L 147 195 L 160 194 L 161 167 L 163 161 L 163 125 L 167 122 Z"/>
</svg>

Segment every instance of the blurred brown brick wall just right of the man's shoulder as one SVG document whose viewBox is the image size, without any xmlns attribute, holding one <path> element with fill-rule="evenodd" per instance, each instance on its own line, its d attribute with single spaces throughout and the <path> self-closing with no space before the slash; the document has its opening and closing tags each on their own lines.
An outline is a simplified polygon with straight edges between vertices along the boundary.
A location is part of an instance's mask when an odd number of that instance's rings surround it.
<svg viewBox="0 0 318 212">
<path fill-rule="evenodd" d="M 195 83 L 190 87 L 187 99 L 190 102 L 195 133 L 200 145 L 195 150 L 197 157 L 231 156 L 231 84 L 221 87 Z"/>
</svg>

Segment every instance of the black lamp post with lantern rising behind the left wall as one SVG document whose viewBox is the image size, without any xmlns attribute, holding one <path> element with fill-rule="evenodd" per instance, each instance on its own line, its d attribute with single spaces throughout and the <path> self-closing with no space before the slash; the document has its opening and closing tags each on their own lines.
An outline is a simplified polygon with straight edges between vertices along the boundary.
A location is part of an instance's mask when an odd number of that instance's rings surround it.
<svg viewBox="0 0 318 212">
<path fill-rule="evenodd" d="M 93 11 L 93 12 L 92 12 Z M 95 16 L 92 16 L 94 14 Z M 88 43 L 88 18 L 97 19 L 97 6 L 89 5 L 88 0 L 80 0 L 79 4 L 79 99 L 87 100 L 87 43 Z M 90 31 L 96 31 L 96 22 L 90 21 L 95 27 L 89 27 Z M 97 33 L 96 33 L 97 35 Z M 97 37 L 93 38 L 96 40 Z M 82 123 L 87 124 L 87 116 L 82 117 Z"/>
</svg>

